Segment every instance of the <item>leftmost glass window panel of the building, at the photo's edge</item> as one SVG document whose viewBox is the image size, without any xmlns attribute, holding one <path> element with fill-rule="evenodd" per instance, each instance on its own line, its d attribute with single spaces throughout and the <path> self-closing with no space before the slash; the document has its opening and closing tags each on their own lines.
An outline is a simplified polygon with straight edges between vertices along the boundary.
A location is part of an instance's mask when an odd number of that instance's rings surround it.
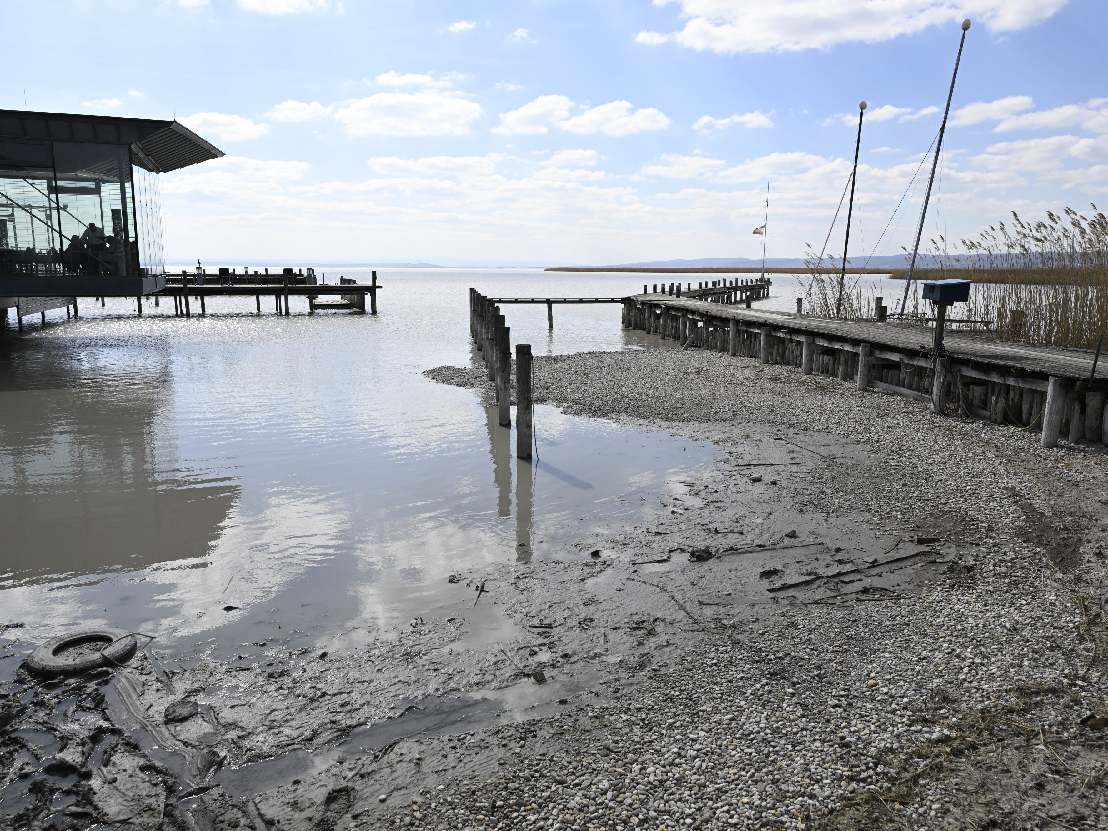
<svg viewBox="0 0 1108 831">
<path fill-rule="evenodd" d="M 61 273 L 52 184 L 53 171 L 0 166 L 0 274 Z"/>
</svg>

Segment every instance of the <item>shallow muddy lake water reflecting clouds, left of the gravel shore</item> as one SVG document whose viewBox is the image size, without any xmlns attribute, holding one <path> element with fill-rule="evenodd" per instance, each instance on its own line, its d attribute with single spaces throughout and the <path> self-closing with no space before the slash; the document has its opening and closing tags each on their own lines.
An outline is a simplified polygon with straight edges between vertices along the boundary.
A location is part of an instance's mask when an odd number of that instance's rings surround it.
<svg viewBox="0 0 1108 831">
<path fill-rule="evenodd" d="M 574 543 L 588 530 L 661 510 L 716 458 L 538 407 L 529 465 L 476 393 L 421 375 L 475 359 L 471 285 L 620 296 L 635 278 L 378 276 L 377 317 L 217 299 L 206 318 L 175 319 L 170 304 L 138 318 L 133 301 L 83 298 L 79 320 L 29 319 L 0 343 L 0 623 L 24 624 L 17 648 L 103 624 L 178 657 L 394 632 L 456 603 L 454 570 L 587 558 Z M 673 345 L 623 330 L 618 306 L 555 307 L 553 332 L 542 306 L 506 316 L 536 353 Z M 490 613 L 474 636 L 503 625 Z M 0 660 L 0 675 L 17 665 Z"/>
</svg>

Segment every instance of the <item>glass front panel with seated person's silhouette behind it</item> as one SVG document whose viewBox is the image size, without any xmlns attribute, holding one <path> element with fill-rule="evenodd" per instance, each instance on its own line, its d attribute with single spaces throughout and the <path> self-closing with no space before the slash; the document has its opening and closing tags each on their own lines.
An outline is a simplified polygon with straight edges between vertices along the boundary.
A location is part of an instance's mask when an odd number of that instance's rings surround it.
<svg viewBox="0 0 1108 831">
<path fill-rule="evenodd" d="M 80 273 L 91 276 L 137 274 L 127 146 L 54 142 L 54 170 L 68 260 L 79 254 Z"/>
</svg>

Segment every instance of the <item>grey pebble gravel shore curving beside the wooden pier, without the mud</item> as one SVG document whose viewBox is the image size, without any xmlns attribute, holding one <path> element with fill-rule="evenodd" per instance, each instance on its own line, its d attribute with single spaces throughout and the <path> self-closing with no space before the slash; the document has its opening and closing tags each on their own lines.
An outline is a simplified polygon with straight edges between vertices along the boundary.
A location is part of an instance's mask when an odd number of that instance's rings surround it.
<svg viewBox="0 0 1108 831">
<path fill-rule="evenodd" d="M 468 368 L 429 375 L 488 393 Z M 1034 433 L 700 350 L 538 358 L 535 389 L 573 413 L 717 442 L 728 461 L 699 493 L 771 490 L 789 524 L 807 517 L 801 537 L 845 522 L 860 537 L 938 536 L 942 556 L 895 593 L 859 572 L 779 593 L 753 626 L 698 609 L 702 632 L 647 684 L 529 727 L 511 773 L 429 791 L 386 822 L 1108 828 L 1105 733 L 1081 724 L 1108 710 L 1104 448 L 1045 450 Z M 769 442 L 806 463 L 748 466 Z M 704 500 L 665 527 L 711 545 L 726 513 Z M 722 562 L 680 567 L 726 593 Z"/>
</svg>

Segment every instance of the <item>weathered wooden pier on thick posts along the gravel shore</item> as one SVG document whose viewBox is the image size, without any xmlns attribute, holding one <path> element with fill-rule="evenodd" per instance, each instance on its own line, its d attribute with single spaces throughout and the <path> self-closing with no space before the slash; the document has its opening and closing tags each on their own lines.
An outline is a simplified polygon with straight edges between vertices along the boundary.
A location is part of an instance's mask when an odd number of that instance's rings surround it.
<svg viewBox="0 0 1108 831">
<path fill-rule="evenodd" d="M 1042 431 L 1044 447 L 1059 434 L 1104 442 L 1108 363 L 1090 350 L 1056 349 L 947 332 L 932 355 L 934 329 L 897 322 L 834 320 L 788 311 L 740 308 L 653 293 L 624 299 L 623 325 L 762 363 L 800 367 L 926 401 L 993 423 Z"/>
</svg>

